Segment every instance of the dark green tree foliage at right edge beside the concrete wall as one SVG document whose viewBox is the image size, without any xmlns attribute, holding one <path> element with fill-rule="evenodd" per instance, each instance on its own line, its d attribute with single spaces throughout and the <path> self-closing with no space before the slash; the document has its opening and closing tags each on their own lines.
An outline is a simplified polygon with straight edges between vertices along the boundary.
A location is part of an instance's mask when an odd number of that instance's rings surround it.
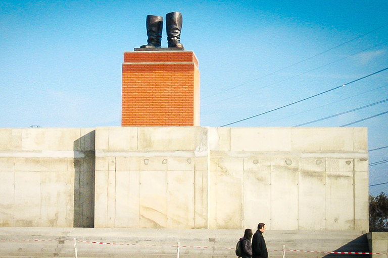
<svg viewBox="0 0 388 258">
<path fill-rule="evenodd" d="M 369 196 L 369 232 L 388 232 L 388 195 Z"/>
</svg>

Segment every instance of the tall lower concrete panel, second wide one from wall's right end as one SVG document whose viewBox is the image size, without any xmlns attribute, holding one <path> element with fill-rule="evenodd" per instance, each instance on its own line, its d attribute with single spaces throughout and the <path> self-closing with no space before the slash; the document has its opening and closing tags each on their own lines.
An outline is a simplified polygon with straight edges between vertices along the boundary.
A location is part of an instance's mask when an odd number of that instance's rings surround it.
<svg viewBox="0 0 388 258">
<path fill-rule="evenodd" d="M 316 165 L 315 160 L 311 161 L 311 168 L 315 169 L 321 169 L 320 165 L 324 164 L 322 162 Z M 325 172 L 314 170 L 299 172 L 298 189 L 299 230 L 325 228 Z"/>
</svg>

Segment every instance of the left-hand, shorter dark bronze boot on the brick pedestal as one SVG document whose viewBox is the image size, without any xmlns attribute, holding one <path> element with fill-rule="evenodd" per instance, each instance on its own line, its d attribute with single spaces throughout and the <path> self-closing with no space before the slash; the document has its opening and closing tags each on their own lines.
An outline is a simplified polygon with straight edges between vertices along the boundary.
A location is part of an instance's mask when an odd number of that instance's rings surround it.
<svg viewBox="0 0 388 258">
<path fill-rule="evenodd" d="M 147 15 L 147 45 L 142 45 L 142 48 L 160 47 L 162 41 L 163 17 L 155 15 Z"/>
</svg>

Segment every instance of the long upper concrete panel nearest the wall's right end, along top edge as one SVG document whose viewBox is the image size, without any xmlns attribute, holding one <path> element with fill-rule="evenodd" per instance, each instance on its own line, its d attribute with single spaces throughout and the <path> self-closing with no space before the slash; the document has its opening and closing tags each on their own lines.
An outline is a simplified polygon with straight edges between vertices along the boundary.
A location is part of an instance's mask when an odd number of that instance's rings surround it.
<svg viewBox="0 0 388 258">
<path fill-rule="evenodd" d="M 293 151 L 353 151 L 353 128 L 293 128 L 292 142 Z"/>
</svg>

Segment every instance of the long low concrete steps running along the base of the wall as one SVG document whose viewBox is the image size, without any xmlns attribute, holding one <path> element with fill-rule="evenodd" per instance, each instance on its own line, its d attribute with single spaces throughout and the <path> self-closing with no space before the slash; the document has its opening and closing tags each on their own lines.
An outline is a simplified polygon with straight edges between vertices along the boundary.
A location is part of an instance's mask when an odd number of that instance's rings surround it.
<svg viewBox="0 0 388 258">
<path fill-rule="evenodd" d="M 180 257 L 235 258 L 234 247 L 243 232 L 244 230 L 3 227 L 0 228 L 0 239 L 5 240 L 0 240 L 0 257 L 74 257 L 74 238 L 76 238 L 78 257 L 176 257 L 177 242 L 179 242 Z M 368 252 L 367 239 L 363 233 L 362 231 L 267 230 L 264 237 L 267 248 L 270 249 L 269 256 L 281 257 L 282 251 L 279 250 L 283 245 L 285 249 L 307 251 Z M 8 239 L 18 239 L 18 241 Z M 84 241 L 104 242 L 104 244 Z M 347 257 L 346 254 L 327 255 L 296 251 L 285 253 L 286 257 L 320 258 L 325 255 L 330 258 Z M 366 257 L 361 254 L 356 256 Z"/>
</svg>

